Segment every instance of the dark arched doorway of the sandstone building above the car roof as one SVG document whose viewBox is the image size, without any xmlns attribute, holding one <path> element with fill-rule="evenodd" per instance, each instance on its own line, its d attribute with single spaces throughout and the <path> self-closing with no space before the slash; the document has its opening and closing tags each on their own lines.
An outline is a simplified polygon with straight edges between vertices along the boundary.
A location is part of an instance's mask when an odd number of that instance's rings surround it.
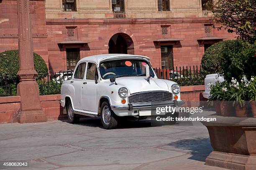
<svg viewBox="0 0 256 170">
<path fill-rule="evenodd" d="M 131 37 L 125 33 L 113 35 L 108 42 L 109 54 L 134 54 L 134 45 Z"/>
</svg>

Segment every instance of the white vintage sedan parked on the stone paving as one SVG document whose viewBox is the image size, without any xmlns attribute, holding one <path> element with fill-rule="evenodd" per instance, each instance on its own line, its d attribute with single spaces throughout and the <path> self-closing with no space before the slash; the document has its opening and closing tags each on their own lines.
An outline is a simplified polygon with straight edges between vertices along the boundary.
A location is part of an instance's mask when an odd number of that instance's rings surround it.
<svg viewBox="0 0 256 170">
<path fill-rule="evenodd" d="M 115 128 L 121 117 L 146 119 L 152 117 L 153 106 L 180 103 L 179 85 L 158 79 L 149 58 L 140 55 L 84 57 L 72 79 L 61 85 L 61 106 L 70 123 L 77 123 L 80 115 L 100 116 L 106 129 Z"/>
</svg>

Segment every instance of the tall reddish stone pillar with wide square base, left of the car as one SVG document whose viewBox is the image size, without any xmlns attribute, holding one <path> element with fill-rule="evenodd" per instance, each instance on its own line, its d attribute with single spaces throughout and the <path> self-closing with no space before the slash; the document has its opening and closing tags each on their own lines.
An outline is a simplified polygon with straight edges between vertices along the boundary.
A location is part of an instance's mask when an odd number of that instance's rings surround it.
<svg viewBox="0 0 256 170">
<path fill-rule="evenodd" d="M 29 16 L 29 0 L 17 0 L 18 5 L 18 45 L 20 83 L 17 95 L 20 96 L 19 123 L 46 122 L 46 115 L 40 105 L 37 72 L 33 61 L 33 40 Z"/>
</svg>

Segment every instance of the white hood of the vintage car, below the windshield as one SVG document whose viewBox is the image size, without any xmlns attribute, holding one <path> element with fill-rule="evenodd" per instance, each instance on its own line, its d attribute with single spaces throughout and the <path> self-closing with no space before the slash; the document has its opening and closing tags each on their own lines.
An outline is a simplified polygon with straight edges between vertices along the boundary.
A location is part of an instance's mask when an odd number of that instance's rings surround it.
<svg viewBox="0 0 256 170">
<path fill-rule="evenodd" d="M 170 80 L 161 80 L 150 78 L 149 82 L 146 77 L 120 77 L 116 78 L 116 83 L 119 86 L 127 87 L 130 94 L 145 91 L 169 91 L 174 82 Z"/>
</svg>

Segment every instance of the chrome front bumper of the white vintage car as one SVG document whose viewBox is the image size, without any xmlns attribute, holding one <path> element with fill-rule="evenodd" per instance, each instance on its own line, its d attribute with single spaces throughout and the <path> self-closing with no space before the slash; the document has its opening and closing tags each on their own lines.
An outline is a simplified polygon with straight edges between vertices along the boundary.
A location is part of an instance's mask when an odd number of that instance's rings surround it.
<svg viewBox="0 0 256 170">
<path fill-rule="evenodd" d="M 140 109 L 140 110 L 148 110 L 154 107 L 164 107 L 164 106 L 178 106 L 184 104 L 185 101 L 174 100 L 172 102 L 159 102 L 159 103 L 146 103 L 146 104 L 128 104 L 128 105 L 111 105 L 112 110 L 133 110 L 133 109 Z"/>
</svg>

